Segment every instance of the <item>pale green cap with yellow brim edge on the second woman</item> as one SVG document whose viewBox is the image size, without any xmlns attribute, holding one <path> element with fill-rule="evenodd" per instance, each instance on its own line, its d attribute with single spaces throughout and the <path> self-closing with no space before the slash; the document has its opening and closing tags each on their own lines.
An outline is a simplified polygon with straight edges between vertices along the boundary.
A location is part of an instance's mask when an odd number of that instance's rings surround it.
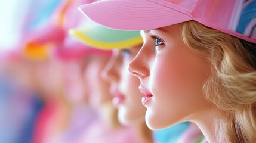
<svg viewBox="0 0 256 143">
<path fill-rule="evenodd" d="M 139 31 L 122 31 L 92 24 L 83 29 L 70 29 L 69 34 L 84 43 L 98 49 L 124 49 L 143 43 Z"/>
</svg>

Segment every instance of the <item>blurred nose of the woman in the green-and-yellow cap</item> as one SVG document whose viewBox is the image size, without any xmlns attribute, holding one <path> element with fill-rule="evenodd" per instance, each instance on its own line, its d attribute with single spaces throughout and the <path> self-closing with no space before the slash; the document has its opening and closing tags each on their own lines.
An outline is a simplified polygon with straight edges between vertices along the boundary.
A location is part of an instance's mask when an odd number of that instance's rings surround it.
<svg viewBox="0 0 256 143">
<path fill-rule="evenodd" d="M 116 55 L 112 55 L 101 72 L 101 77 L 103 77 L 107 82 L 116 82 L 119 80 L 117 60 L 118 57 Z"/>
</svg>

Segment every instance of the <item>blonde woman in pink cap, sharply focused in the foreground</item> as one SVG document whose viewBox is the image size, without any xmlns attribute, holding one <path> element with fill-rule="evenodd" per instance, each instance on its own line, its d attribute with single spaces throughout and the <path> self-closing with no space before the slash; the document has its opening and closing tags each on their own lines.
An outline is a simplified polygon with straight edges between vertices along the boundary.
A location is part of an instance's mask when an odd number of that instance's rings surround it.
<svg viewBox="0 0 256 143">
<path fill-rule="evenodd" d="M 104 26 L 141 30 L 129 70 L 140 79 L 150 129 L 191 121 L 203 142 L 256 142 L 255 5 L 111 0 L 80 8 Z"/>
</svg>

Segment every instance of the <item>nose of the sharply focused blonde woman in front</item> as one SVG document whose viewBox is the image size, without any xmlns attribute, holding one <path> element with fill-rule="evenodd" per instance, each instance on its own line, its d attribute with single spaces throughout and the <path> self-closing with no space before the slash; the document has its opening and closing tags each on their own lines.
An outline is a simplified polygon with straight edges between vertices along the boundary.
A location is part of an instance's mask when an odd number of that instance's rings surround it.
<svg viewBox="0 0 256 143">
<path fill-rule="evenodd" d="M 136 57 L 129 63 L 129 72 L 139 77 L 140 79 L 143 77 L 147 77 L 150 75 L 149 72 L 149 59 L 145 47 L 143 46 Z"/>
</svg>

